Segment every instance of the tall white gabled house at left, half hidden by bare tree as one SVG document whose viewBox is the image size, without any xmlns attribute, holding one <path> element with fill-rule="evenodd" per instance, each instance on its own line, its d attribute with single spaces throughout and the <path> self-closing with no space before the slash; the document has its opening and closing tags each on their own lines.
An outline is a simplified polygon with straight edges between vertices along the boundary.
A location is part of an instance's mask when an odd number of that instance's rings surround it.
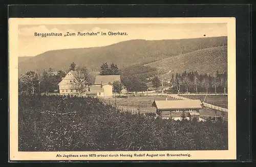
<svg viewBox="0 0 256 167">
<path fill-rule="evenodd" d="M 69 73 L 62 78 L 59 86 L 59 93 L 60 94 L 76 94 L 77 88 L 76 88 L 77 78 L 76 78 L 76 71 L 69 71 Z M 85 89 L 87 89 L 88 84 L 86 83 L 83 85 Z"/>
</svg>

